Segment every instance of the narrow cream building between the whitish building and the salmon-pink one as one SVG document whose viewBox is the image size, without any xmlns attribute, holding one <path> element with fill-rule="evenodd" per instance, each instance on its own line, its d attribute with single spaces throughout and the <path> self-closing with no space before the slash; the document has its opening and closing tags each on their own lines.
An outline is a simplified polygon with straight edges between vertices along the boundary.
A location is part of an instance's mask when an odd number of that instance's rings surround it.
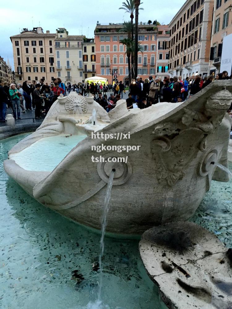
<svg viewBox="0 0 232 309">
<path fill-rule="evenodd" d="M 84 38 L 83 74 L 84 74 L 83 79 L 95 76 L 96 74 L 96 46 L 94 43 L 94 39 Z"/>
</svg>

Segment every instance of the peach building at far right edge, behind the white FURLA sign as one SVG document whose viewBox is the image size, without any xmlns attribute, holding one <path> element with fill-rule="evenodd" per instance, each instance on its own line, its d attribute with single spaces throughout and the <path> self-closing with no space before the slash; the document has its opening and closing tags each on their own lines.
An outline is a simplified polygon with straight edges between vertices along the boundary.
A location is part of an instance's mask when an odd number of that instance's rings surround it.
<svg viewBox="0 0 232 309">
<path fill-rule="evenodd" d="M 209 74 L 217 74 L 220 71 L 222 42 L 225 36 L 232 33 L 231 19 L 232 0 L 214 0 Z"/>
</svg>

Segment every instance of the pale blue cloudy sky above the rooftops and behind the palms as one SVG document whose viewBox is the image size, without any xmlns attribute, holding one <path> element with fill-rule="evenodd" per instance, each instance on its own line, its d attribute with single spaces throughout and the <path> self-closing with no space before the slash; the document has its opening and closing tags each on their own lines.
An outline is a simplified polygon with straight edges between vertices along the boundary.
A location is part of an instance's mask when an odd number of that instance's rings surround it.
<svg viewBox="0 0 232 309">
<path fill-rule="evenodd" d="M 143 0 L 139 22 L 154 21 L 169 24 L 186 0 Z M 1 45 L 0 56 L 14 65 L 10 36 L 19 34 L 23 28 L 42 27 L 44 32 L 55 33 L 65 27 L 70 35 L 94 36 L 97 21 L 100 24 L 129 21 L 129 13 L 118 10 L 123 1 L 115 0 L 76 0 L 76 1 L 15 1 L 1 2 Z"/>
</svg>

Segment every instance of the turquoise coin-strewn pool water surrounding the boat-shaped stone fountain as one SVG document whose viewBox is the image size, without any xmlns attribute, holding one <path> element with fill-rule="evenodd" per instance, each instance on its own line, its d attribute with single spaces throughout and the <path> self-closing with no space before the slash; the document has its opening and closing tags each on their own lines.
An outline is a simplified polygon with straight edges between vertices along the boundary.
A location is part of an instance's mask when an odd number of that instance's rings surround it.
<svg viewBox="0 0 232 309">
<path fill-rule="evenodd" d="M 7 152 L 25 136 L 0 141 L 0 307 L 165 308 L 144 270 L 136 240 L 105 238 L 98 301 L 100 273 L 92 265 L 98 261 L 100 235 L 39 204 L 3 169 Z M 231 184 L 232 180 L 213 181 L 191 219 L 228 247 L 232 246 Z"/>
</svg>

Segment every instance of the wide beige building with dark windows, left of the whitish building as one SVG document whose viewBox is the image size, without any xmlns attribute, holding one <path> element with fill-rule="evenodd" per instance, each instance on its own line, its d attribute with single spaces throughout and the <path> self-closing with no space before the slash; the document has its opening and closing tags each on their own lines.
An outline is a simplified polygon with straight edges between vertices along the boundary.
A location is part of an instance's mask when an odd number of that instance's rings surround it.
<svg viewBox="0 0 232 309">
<path fill-rule="evenodd" d="M 54 66 L 56 33 L 43 32 L 41 27 L 11 36 L 15 65 L 15 82 L 28 80 L 50 83 L 57 73 Z"/>
</svg>

